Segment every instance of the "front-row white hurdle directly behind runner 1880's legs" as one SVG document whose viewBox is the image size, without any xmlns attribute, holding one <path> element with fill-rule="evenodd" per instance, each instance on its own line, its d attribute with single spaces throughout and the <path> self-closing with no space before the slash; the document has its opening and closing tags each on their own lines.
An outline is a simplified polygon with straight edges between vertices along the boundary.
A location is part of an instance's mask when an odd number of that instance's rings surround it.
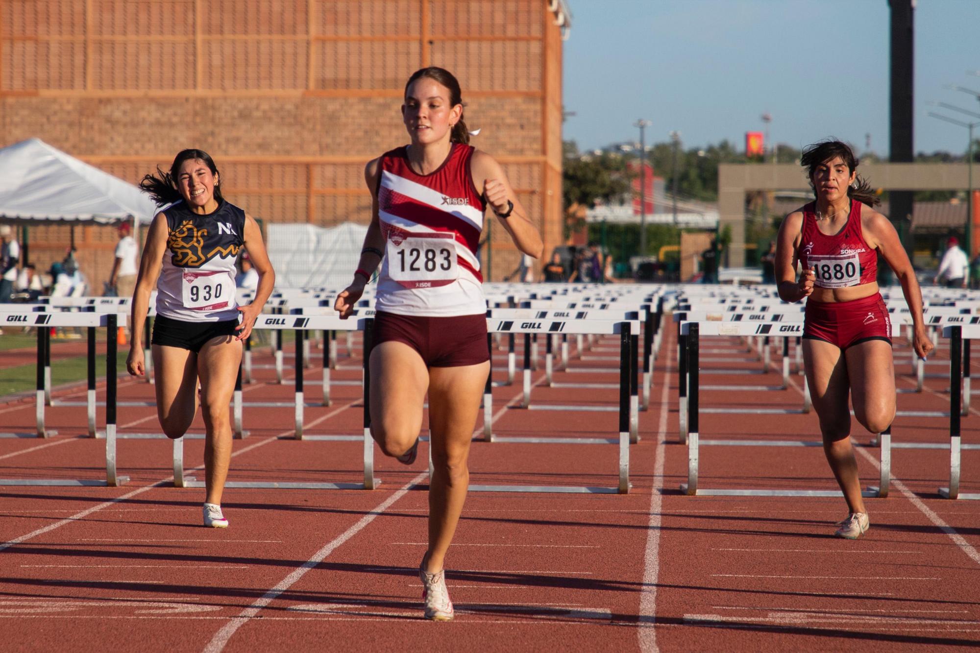
<svg viewBox="0 0 980 653">
<path fill-rule="evenodd" d="M 789 324 L 769 324 L 759 325 L 738 322 L 681 322 L 681 333 L 687 336 L 687 359 L 689 370 L 687 372 L 689 392 L 688 392 L 688 475 L 687 482 L 681 483 L 680 489 L 688 496 L 841 496 L 840 490 L 768 490 L 768 489 L 705 489 L 699 487 L 699 461 L 700 447 L 702 445 L 714 446 L 805 446 L 822 447 L 821 441 L 806 440 L 701 440 L 700 437 L 700 406 L 698 388 L 698 361 L 701 335 L 756 335 L 761 327 L 769 334 L 778 337 L 791 337 L 803 332 L 803 323 Z M 775 327 L 775 328 L 774 328 Z M 882 438 L 881 452 L 881 486 L 885 494 L 873 492 L 870 489 L 862 491 L 863 496 L 877 497 L 887 494 L 888 477 L 890 475 L 889 462 L 891 460 L 891 450 L 888 447 L 891 438 Z"/>
</svg>

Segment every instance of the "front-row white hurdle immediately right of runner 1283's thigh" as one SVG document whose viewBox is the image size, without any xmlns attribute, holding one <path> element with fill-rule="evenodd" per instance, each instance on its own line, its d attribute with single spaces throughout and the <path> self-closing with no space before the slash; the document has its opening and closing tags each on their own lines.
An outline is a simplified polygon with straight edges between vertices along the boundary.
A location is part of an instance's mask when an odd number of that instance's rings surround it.
<svg viewBox="0 0 980 653">
<path fill-rule="evenodd" d="M 548 486 L 548 485 L 470 485 L 469 489 L 476 492 L 486 491 L 486 492 L 570 492 L 570 493 L 619 493 L 626 494 L 629 492 L 630 482 L 629 482 L 629 415 L 630 415 L 630 404 L 631 401 L 636 399 L 636 384 L 630 383 L 630 371 L 636 370 L 636 356 L 635 350 L 633 349 L 633 330 L 634 324 L 629 321 L 611 322 L 611 321 L 582 321 L 582 322 L 565 322 L 565 321 L 510 321 L 510 320 L 497 320 L 493 318 L 487 319 L 487 343 L 491 342 L 492 334 L 497 332 L 504 333 L 573 333 L 573 334 L 606 334 L 606 335 L 618 335 L 619 336 L 619 352 L 620 352 L 620 369 L 619 369 L 619 406 L 617 410 L 619 414 L 619 433 L 617 438 L 577 438 L 577 437 L 498 437 L 492 435 L 493 424 L 491 422 L 492 418 L 488 418 L 492 414 L 492 398 L 489 397 L 490 387 L 489 387 L 489 376 L 488 384 L 484 388 L 483 395 L 483 415 L 484 415 L 484 440 L 492 442 L 533 442 L 533 443 L 555 443 L 555 444 L 615 444 L 618 446 L 618 486 L 616 487 L 593 487 L 593 486 L 578 486 L 578 485 L 564 485 L 564 486 Z M 525 350 L 528 351 L 529 350 Z M 529 356 L 526 353 L 525 356 Z M 630 364 L 632 361 L 632 365 Z M 529 364 L 528 364 L 529 367 Z M 635 377 L 634 377 L 635 378 Z M 585 408 L 591 410 L 592 408 L 600 407 L 572 407 L 574 409 Z M 605 407 L 602 407 L 605 408 Z"/>
</svg>

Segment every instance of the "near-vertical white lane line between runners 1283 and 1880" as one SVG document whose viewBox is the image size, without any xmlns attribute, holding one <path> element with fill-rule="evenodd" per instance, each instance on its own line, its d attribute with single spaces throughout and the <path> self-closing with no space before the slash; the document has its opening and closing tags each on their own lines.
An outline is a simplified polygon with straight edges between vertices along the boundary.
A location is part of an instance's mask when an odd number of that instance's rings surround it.
<svg viewBox="0 0 980 653">
<path fill-rule="evenodd" d="M 670 383 L 667 382 L 667 371 L 670 368 L 672 346 L 667 347 L 667 355 L 663 360 L 663 377 L 661 389 L 661 421 L 657 427 L 657 450 L 654 466 L 654 486 L 650 490 L 650 522 L 647 525 L 647 547 L 643 554 L 643 591 L 640 594 L 640 627 L 636 636 L 640 640 L 640 650 L 644 653 L 656 653 L 657 646 L 657 581 L 661 570 L 661 504 L 663 489 L 663 456 L 666 454 L 664 442 L 667 432 L 667 402 L 669 400 Z"/>
</svg>

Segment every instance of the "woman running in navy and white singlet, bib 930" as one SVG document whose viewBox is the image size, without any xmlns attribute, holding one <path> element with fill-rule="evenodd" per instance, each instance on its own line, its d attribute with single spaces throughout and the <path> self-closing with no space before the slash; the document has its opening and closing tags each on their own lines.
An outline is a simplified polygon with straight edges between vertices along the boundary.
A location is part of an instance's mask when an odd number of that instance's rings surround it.
<svg viewBox="0 0 980 653">
<path fill-rule="evenodd" d="M 170 172 L 158 168 L 140 186 L 163 209 L 147 232 L 139 264 L 126 368 L 133 376 L 145 374 L 143 325 L 156 288 L 152 346 L 160 426 L 168 437 L 182 437 L 200 398 L 206 429 L 204 526 L 223 528 L 228 521 L 221 493 L 231 459 L 228 403 L 242 340 L 262 313 L 275 274 L 259 225 L 221 197 L 221 177 L 207 152 L 180 151 Z M 246 306 L 235 299 L 235 261 L 242 248 L 259 273 L 255 298 Z"/>
</svg>

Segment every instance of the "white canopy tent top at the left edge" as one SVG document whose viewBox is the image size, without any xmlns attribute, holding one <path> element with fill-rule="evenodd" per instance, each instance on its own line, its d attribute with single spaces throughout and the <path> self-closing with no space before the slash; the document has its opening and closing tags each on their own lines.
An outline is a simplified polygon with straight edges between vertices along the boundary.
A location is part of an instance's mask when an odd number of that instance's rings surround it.
<svg viewBox="0 0 980 653">
<path fill-rule="evenodd" d="M 157 206 L 137 186 L 38 138 L 0 149 L 0 222 L 149 224 Z"/>
</svg>

